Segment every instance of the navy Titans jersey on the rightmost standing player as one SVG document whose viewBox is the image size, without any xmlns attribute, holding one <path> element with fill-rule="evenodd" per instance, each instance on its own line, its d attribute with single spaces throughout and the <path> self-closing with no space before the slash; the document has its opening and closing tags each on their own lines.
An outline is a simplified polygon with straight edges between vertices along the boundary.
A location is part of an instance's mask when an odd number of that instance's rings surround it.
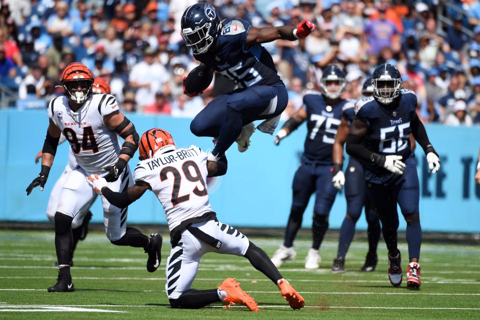
<svg viewBox="0 0 480 320">
<path fill-rule="evenodd" d="M 363 145 L 368 150 L 384 155 L 401 155 L 405 161 L 411 153 L 408 136 L 417 100 L 413 91 L 401 89 L 397 101 L 398 105 L 393 109 L 382 106 L 373 97 L 362 98 L 355 104 L 355 113 L 356 118 L 368 125 L 363 139 Z M 379 174 L 389 172 L 375 163 L 366 163 L 365 169 Z"/>
</svg>

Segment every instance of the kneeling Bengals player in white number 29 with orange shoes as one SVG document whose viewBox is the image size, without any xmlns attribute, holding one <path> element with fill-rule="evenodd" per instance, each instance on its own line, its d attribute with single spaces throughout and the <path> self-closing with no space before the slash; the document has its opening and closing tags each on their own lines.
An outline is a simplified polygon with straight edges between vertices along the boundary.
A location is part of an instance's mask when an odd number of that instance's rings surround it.
<svg viewBox="0 0 480 320">
<path fill-rule="evenodd" d="M 154 128 L 142 134 L 140 159 L 133 177 L 135 184 L 115 192 L 104 178 L 89 177 L 94 190 L 110 203 L 122 208 L 151 190 L 165 209 L 172 248 L 166 261 L 165 290 L 174 308 L 200 308 L 225 301 L 258 311 L 253 298 L 246 294 L 234 278 L 226 278 L 217 289 L 190 288 L 203 254 L 217 252 L 246 257 L 260 272 L 280 289 L 290 307 L 303 307 L 304 300 L 281 276 L 268 255 L 240 231 L 217 220 L 211 211 L 205 184 L 207 176 L 226 173 L 225 156 L 207 160 L 197 146 L 177 149 L 170 133 Z"/>
</svg>

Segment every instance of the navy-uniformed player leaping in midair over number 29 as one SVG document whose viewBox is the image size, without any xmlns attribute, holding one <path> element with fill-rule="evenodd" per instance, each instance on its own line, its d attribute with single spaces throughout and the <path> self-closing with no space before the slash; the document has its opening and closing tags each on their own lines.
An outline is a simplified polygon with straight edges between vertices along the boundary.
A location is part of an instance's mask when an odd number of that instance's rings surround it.
<svg viewBox="0 0 480 320">
<path fill-rule="evenodd" d="M 245 151 L 255 130 L 253 120 L 263 119 L 258 129 L 272 134 L 286 107 L 285 85 L 261 43 L 276 39 L 294 41 L 314 29 L 315 25 L 307 20 L 296 28 L 256 28 L 241 19 L 220 21 L 215 9 L 203 2 L 183 12 L 181 36 L 193 57 L 238 84 L 238 89 L 208 103 L 190 124 L 191 132 L 197 136 L 217 137 L 209 154 L 211 160 L 221 156 L 235 140 L 238 150 Z M 201 92 L 185 93 L 191 96 Z"/>
</svg>

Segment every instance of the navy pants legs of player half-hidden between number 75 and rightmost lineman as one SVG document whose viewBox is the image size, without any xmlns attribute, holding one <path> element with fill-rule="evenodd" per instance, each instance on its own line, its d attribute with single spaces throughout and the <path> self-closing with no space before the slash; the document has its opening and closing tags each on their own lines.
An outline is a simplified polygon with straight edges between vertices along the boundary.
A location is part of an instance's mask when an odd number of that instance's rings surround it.
<svg viewBox="0 0 480 320">
<path fill-rule="evenodd" d="M 363 206 L 365 206 L 365 218 L 368 224 L 368 252 L 376 253 L 380 238 L 380 222 L 366 194 L 362 164 L 353 157 L 350 157 L 345 169 L 345 198 L 346 215 L 340 227 L 337 257 L 346 255 L 355 234 L 355 223 L 360 217 Z"/>
</svg>

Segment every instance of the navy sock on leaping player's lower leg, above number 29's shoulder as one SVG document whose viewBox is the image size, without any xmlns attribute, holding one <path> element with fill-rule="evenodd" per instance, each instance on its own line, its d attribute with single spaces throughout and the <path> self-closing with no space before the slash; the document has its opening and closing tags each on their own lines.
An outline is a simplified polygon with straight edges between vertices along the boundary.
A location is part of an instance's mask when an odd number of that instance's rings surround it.
<svg viewBox="0 0 480 320">
<path fill-rule="evenodd" d="M 230 145 L 238 138 L 243 125 L 241 113 L 233 110 L 229 106 L 226 108 L 225 120 L 220 126 L 220 133 L 216 139 L 215 147 L 211 151 L 213 155 L 223 155 Z"/>
</svg>

